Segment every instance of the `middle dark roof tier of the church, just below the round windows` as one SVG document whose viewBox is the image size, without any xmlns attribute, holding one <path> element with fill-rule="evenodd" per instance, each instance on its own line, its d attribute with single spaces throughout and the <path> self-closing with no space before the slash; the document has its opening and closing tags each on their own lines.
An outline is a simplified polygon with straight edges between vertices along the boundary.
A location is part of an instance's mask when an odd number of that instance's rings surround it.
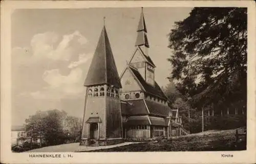
<svg viewBox="0 0 256 164">
<path fill-rule="evenodd" d="M 168 116 L 169 107 L 148 100 L 127 100 L 121 103 L 122 115 L 150 114 L 157 116 Z"/>
</svg>

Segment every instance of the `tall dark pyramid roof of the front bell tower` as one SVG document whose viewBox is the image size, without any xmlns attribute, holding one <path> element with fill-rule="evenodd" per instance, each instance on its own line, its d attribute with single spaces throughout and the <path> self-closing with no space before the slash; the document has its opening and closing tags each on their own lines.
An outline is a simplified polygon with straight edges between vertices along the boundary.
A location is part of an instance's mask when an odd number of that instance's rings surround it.
<svg viewBox="0 0 256 164">
<path fill-rule="evenodd" d="M 122 87 L 105 25 L 101 31 L 84 86 L 100 84 Z"/>
</svg>

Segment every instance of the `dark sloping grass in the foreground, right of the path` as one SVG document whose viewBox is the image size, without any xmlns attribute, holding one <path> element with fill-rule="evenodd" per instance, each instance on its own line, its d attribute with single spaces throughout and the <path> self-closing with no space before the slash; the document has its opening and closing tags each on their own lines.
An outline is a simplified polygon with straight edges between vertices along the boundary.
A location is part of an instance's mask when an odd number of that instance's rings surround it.
<svg viewBox="0 0 256 164">
<path fill-rule="evenodd" d="M 139 143 L 91 152 L 143 152 L 143 151 L 232 151 L 246 150 L 246 142 L 235 147 L 236 130 L 210 130 L 190 134 L 172 140 L 160 140 L 156 143 Z"/>
</svg>

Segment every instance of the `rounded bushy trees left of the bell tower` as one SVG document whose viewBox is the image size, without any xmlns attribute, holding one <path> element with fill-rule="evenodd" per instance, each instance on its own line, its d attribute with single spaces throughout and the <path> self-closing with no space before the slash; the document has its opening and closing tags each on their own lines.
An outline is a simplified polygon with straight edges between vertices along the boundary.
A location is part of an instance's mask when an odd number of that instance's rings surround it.
<svg viewBox="0 0 256 164">
<path fill-rule="evenodd" d="M 25 121 L 25 130 L 31 137 L 44 137 L 47 145 L 63 144 L 70 137 L 80 135 L 79 119 L 67 116 L 57 109 L 37 111 Z"/>
</svg>

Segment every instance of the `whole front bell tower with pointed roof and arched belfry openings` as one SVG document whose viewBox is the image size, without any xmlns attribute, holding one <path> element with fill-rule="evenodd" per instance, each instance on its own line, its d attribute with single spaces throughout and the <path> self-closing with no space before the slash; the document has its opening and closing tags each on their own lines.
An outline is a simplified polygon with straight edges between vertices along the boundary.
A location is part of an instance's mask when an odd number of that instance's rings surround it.
<svg viewBox="0 0 256 164">
<path fill-rule="evenodd" d="M 110 145 L 121 142 L 122 120 L 119 90 L 122 88 L 105 26 L 84 82 L 81 145 Z"/>
</svg>

